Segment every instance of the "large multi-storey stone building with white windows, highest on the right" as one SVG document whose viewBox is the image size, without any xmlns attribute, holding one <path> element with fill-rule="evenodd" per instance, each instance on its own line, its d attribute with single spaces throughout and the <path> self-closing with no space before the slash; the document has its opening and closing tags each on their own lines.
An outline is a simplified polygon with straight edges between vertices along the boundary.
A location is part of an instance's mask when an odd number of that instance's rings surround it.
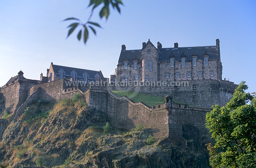
<svg viewBox="0 0 256 168">
<path fill-rule="evenodd" d="M 111 83 L 203 79 L 222 79 L 219 39 L 216 45 L 202 47 L 178 47 L 175 42 L 174 48 L 162 48 L 157 42 L 156 48 L 149 39 L 139 50 L 126 50 L 122 45 Z"/>
</svg>

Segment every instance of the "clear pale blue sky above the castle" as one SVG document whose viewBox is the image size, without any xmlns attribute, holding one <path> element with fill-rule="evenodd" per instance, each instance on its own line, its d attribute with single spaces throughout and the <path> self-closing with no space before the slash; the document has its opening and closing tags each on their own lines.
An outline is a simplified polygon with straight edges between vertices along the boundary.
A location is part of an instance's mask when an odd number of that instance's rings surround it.
<svg viewBox="0 0 256 168">
<path fill-rule="evenodd" d="M 247 81 L 256 91 L 255 0 L 123 0 L 121 14 L 111 10 L 91 32 L 86 45 L 72 34 L 67 17 L 86 21 L 89 0 L 0 0 L 0 86 L 22 70 L 25 78 L 46 76 L 50 63 L 114 74 L 121 45 L 141 49 L 148 39 L 163 48 L 215 45 L 220 39 L 222 78 Z"/>
</svg>

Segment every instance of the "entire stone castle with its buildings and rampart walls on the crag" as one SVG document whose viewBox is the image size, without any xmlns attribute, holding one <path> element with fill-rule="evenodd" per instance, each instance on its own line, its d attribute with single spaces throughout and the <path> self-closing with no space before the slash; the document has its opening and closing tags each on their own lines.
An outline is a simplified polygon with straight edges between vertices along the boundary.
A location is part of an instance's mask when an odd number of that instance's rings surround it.
<svg viewBox="0 0 256 168">
<path fill-rule="evenodd" d="M 206 112 L 214 104 L 225 105 L 237 87 L 233 82 L 221 79 L 219 40 L 216 40 L 216 46 L 207 47 L 178 48 L 175 43 L 175 48 L 162 48 L 159 42 L 157 46 L 155 48 L 150 40 L 143 43 L 141 50 L 126 50 L 122 45 L 116 75 L 111 76 L 110 84 L 101 71 L 53 63 L 47 69 L 47 76 L 41 74 L 40 80 L 26 79 L 20 71 L 1 88 L 0 102 L 14 113 L 17 120 L 35 99 L 55 103 L 81 94 L 89 109 L 107 114 L 112 126 L 131 129 L 141 123 L 151 128 L 157 138 L 183 143 L 186 143 L 182 137 L 183 129 L 188 125 L 208 136 L 204 126 Z M 138 85 L 132 85 L 134 81 L 138 81 Z M 165 85 L 152 85 L 159 81 Z M 112 90 L 162 96 L 165 102 L 147 106 L 119 97 Z"/>
</svg>

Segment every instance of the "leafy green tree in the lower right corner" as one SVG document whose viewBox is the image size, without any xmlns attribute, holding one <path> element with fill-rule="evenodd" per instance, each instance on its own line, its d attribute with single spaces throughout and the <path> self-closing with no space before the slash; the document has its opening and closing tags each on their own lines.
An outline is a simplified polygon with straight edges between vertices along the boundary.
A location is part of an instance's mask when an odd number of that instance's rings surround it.
<svg viewBox="0 0 256 168">
<path fill-rule="evenodd" d="M 226 106 L 212 106 L 206 127 L 214 146 L 207 144 L 212 167 L 256 167 L 256 95 L 245 93 L 242 81 Z"/>
</svg>

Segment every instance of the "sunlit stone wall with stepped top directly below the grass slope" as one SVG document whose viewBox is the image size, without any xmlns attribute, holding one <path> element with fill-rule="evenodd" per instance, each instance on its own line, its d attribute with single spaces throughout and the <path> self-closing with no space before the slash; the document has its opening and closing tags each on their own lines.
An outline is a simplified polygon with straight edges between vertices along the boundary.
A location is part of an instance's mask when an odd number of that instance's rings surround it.
<svg viewBox="0 0 256 168">
<path fill-rule="evenodd" d="M 168 137 L 168 113 L 165 104 L 150 109 L 143 103 L 134 103 L 127 97 L 117 97 L 109 91 L 108 121 L 115 127 L 133 129 L 137 124 L 143 124 L 146 128 L 152 128 L 155 137 Z"/>
</svg>

